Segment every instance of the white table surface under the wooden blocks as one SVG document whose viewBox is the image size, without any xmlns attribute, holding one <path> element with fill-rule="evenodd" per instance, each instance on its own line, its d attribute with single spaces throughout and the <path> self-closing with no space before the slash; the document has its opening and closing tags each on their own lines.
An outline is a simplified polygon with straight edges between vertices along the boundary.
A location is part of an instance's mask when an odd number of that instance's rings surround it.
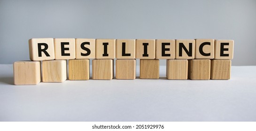
<svg viewBox="0 0 256 131">
<path fill-rule="evenodd" d="M 137 76 L 139 76 L 137 66 Z M 66 80 L 13 85 L 0 65 L 0 121 L 256 121 L 256 66 L 231 80 Z"/>
</svg>

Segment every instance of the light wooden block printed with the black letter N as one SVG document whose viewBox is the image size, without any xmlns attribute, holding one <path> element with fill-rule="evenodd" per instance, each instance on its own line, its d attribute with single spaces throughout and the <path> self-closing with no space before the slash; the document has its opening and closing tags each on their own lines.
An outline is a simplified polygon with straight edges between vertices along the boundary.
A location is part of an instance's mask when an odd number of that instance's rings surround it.
<svg viewBox="0 0 256 131">
<path fill-rule="evenodd" d="M 175 59 L 194 59 L 194 39 L 175 41 Z"/>
</svg>

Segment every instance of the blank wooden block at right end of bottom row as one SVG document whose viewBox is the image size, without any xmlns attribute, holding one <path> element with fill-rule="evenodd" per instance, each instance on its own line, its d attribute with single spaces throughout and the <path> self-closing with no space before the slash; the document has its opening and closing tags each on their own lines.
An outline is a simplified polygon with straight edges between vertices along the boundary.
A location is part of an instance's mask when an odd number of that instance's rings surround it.
<svg viewBox="0 0 256 131">
<path fill-rule="evenodd" d="M 210 79 L 229 80 L 231 76 L 231 60 L 211 60 Z"/>
</svg>

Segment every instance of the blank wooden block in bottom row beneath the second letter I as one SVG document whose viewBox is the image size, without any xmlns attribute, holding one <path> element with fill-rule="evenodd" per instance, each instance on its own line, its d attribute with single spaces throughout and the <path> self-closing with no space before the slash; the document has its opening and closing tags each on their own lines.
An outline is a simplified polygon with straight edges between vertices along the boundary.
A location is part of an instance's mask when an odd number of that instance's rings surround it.
<svg viewBox="0 0 256 131">
<path fill-rule="evenodd" d="M 159 59 L 140 59 L 140 79 L 159 79 Z"/>
</svg>

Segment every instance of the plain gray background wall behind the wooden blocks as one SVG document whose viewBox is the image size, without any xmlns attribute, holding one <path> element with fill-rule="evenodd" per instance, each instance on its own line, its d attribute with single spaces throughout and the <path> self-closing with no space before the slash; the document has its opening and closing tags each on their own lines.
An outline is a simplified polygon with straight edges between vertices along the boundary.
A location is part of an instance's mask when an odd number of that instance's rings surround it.
<svg viewBox="0 0 256 131">
<path fill-rule="evenodd" d="M 43 37 L 233 39 L 233 65 L 256 65 L 256 0 L 0 0 L 0 64 Z"/>
</svg>

